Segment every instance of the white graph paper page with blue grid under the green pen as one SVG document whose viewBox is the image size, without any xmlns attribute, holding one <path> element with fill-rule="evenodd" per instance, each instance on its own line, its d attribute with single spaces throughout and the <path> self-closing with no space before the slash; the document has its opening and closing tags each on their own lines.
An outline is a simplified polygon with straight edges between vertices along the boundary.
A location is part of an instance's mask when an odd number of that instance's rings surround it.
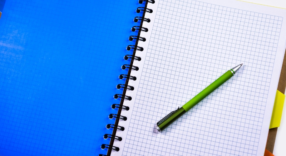
<svg viewBox="0 0 286 156">
<path fill-rule="evenodd" d="M 115 155 L 263 155 L 285 51 L 284 9 L 157 0 L 136 52 Z M 155 124 L 230 68 L 240 70 L 161 133 Z"/>
</svg>

